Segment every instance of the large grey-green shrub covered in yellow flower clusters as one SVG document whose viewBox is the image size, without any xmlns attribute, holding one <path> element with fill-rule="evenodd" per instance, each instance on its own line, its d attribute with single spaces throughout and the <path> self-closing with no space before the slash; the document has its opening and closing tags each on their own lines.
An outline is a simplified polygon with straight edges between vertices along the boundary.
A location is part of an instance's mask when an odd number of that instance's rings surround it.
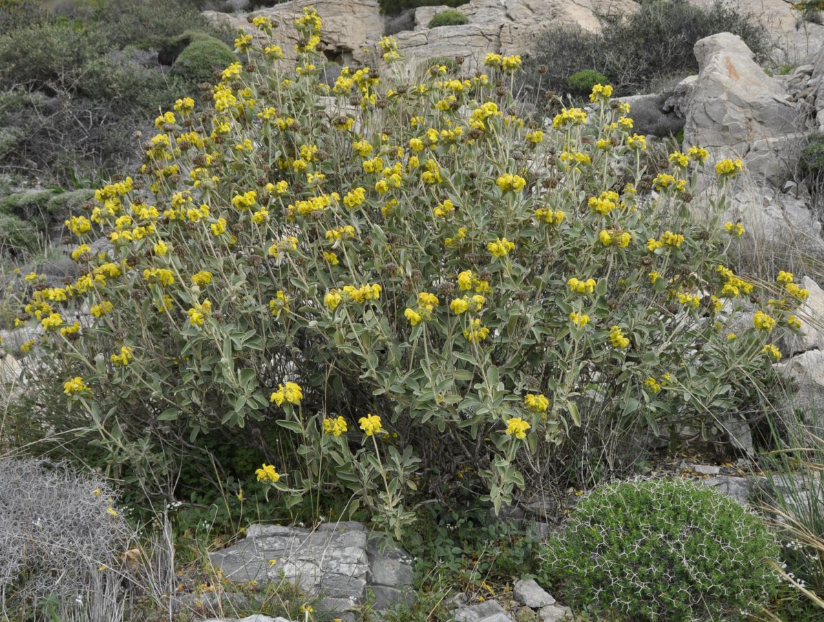
<svg viewBox="0 0 824 622">
<path fill-rule="evenodd" d="M 91 422 L 78 442 L 128 478 L 201 458 L 217 432 L 260 448 L 257 477 L 289 506 L 351 494 L 397 532 L 406 495 L 456 469 L 497 510 L 524 469 L 580 463 L 582 430 L 717 438 L 714 413 L 751 408 L 807 292 L 782 273 L 784 298 L 729 334 L 755 290 L 723 265 L 740 225 L 687 209 L 709 209 L 705 149 L 646 176 L 602 85 L 595 112 L 541 130 L 496 87 L 517 56 L 407 83 L 386 39 L 380 78 L 344 68 L 329 87 L 320 17 L 296 25 L 296 68 L 238 37 L 244 63 L 204 111 L 177 101 L 139 175 L 68 221 L 82 277 L 30 276 L 18 323 L 44 334 L 23 357 L 26 421 Z M 741 170 L 718 163 L 719 185 Z"/>
</svg>

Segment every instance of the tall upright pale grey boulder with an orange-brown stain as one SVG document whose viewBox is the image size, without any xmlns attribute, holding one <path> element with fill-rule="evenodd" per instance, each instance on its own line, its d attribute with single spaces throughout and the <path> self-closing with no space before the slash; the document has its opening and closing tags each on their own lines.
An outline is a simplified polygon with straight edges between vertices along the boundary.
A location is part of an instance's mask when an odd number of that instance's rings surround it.
<svg viewBox="0 0 824 622">
<path fill-rule="evenodd" d="M 742 158 L 756 178 L 780 179 L 798 158 L 803 134 L 781 82 L 728 32 L 695 44 L 699 73 L 687 104 L 686 144 L 714 158 Z"/>
</svg>

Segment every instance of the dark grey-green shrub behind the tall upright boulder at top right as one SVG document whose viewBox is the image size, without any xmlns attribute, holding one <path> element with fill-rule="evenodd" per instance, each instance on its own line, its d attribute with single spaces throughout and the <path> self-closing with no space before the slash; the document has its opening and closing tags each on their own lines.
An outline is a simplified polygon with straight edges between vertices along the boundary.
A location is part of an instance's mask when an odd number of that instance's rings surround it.
<svg viewBox="0 0 824 622">
<path fill-rule="evenodd" d="M 668 76 L 687 75 L 698 69 L 695 41 L 718 32 L 739 35 L 764 60 L 770 53 L 765 30 L 727 2 L 707 8 L 683 0 L 643 2 L 639 11 L 624 19 L 604 21 L 593 34 L 578 26 L 553 26 L 545 31 L 532 54 L 527 80 L 545 91 L 567 92 L 569 77 L 595 69 L 610 77 L 618 95 L 643 92 Z M 539 65 L 544 74 L 534 70 Z"/>
</svg>

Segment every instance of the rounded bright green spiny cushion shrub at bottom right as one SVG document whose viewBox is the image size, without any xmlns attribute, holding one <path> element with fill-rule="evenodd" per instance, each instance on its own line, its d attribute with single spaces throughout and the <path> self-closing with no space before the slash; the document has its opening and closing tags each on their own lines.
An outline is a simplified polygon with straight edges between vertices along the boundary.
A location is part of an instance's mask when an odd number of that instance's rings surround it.
<svg viewBox="0 0 824 622">
<path fill-rule="evenodd" d="M 611 620 L 738 620 L 765 605 L 780 547 L 759 516 L 713 489 L 650 479 L 583 497 L 546 545 L 570 604 Z"/>
</svg>

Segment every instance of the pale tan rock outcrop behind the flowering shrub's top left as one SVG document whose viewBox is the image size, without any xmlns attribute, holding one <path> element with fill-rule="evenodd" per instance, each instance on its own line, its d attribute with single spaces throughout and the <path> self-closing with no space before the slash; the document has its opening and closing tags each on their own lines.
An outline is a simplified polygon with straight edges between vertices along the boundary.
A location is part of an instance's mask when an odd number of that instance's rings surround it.
<svg viewBox="0 0 824 622">
<path fill-rule="evenodd" d="M 260 44 L 265 35 L 250 23 L 249 18 L 266 16 L 277 24 L 274 38 L 287 59 L 295 58 L 297 30 L 294 21 L 303 13 L 303 7 L 315 7 L 323 20 L 321 43 L 326 57 L 344 64 L 363 63 L 368 58 L 364 49 L 383 34 L 383 16 L 377 0 L 290 0 L 246 15 L 204 11 L 204 17 L 218 27 L 244 31 Z"/>
</svg>

